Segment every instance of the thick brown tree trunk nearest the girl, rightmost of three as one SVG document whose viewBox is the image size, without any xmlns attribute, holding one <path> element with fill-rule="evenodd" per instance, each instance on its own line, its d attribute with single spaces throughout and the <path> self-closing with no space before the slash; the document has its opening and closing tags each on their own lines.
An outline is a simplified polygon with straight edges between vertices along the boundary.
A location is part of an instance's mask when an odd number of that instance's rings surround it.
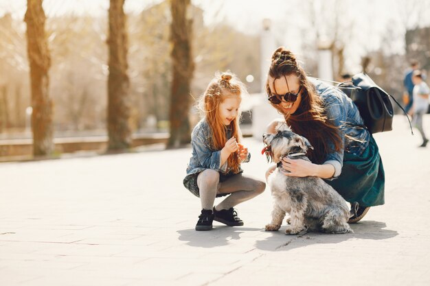
<svg viewBox="0 0 430 286">
<path fill-rule="evenodd" d="M 170 43 L 172 43 L 172 93 L 170 94 L 170 138 L 168 147 L 178 147 L 190 142 L 190 121 L 188 112 L 192 103 L 190 82 L 194 72 L 192 60 L 192 20 L 190 0 L 170 0 L 172 24 Z"/>
</svg>

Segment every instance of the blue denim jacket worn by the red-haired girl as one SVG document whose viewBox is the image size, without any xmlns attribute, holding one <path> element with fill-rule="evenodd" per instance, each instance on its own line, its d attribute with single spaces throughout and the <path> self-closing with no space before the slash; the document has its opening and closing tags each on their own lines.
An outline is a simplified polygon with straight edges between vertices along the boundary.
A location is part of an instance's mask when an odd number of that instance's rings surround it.
<svg viewBox="0 0 430 286">
<path fill-rule="evenodd" d="M 229 173 L 227 162 L 220 166 L 221 163 L 221 150 L 214 150 L 211 144 L 211 130 L 207 121 L 203 118 L 197 123 L 191 134 L 191 147 L 192 157 L 187 167 L 187 176 L 191 174 L 200 173 L 205 169 L 213 169 L 222 174 Z M 227 139 L 231 136 L 231 131 L 227 129 Z M 251 154 L 248 153 L 247 159 L 244 163 L 249 162 Z M 242 169 L 239 166 L 239 173 Z"/>
</svg>

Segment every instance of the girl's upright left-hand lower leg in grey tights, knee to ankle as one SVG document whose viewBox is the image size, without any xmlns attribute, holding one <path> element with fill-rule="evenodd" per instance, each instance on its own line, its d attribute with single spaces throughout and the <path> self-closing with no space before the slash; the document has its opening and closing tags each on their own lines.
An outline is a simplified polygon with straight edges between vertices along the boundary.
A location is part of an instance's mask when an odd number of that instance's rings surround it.
<svg viewBox="0 0 430 286">
<path fill-rule="evenodd" d="M 211 210 L 214 207 L 216 192 L 218 191 L 218 183 L 220 174 L 212 169 L 205 169 L 197 177 L 197 186 L 200 191 L 201 208 Z"/>
</svg>

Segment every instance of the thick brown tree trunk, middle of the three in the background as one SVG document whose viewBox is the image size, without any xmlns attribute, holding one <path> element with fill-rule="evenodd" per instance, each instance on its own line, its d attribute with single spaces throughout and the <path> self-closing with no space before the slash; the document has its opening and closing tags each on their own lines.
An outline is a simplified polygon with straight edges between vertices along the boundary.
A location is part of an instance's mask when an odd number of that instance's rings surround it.
<svg viewBox="0 0 430 286">
<path fill-rule="evenodd" d="M 108 134 L 109 150 L 131 146 L 130 83 L 127 75 L 127 34 L 124 0 L 109 6 Z"/>
</svg>

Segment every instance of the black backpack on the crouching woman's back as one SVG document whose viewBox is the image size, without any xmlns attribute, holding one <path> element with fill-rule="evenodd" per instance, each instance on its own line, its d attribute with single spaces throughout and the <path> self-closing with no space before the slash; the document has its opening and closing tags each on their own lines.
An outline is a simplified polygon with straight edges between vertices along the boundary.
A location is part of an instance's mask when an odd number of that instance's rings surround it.
<svg viewBox="0 0 430 286">
<path fill-rule="evenodd" d="M 369 75 L 358 73 L 352 77 L 352 80 L 339 83 L 337 88 L 346 93 L 359 108 L 364 125 L 370 133 L 393 130 L 394 110 L 390 100 L 391 97 L 405 113 L 411 127 L 411 133 L 414 134 L 409 116 L 407 116 L 403 107 L 392 95 L 389 95 L 375 84 Z"/>
</svg>

